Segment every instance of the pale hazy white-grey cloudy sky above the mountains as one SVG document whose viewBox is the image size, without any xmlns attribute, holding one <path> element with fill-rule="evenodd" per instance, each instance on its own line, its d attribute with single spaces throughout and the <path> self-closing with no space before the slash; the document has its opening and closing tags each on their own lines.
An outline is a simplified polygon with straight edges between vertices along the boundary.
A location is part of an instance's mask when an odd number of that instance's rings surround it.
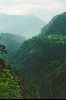
<svg viewBox="0 0 66 100">
<path fill-rule="evenodd" d="M 66 11 L 66 0 L 0 0 L 0 13 L 10 15 L 31 14 L 50 20 Z"/>
</svg>

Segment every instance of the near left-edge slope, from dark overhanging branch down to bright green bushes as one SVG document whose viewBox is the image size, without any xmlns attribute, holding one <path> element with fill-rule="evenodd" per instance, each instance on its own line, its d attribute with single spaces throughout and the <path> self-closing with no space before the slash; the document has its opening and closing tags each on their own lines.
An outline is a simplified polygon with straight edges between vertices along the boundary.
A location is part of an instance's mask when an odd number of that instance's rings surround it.
<svg viewBox="0 0 66 100">
<path fill-rule="evenodd" d="M 10 66 L 5 62 L 8 58 L 6 47 L 0 45 L 0 99 L 20 99 L 19 80 L 12 71 L 8 68 Z"/>
</svg>

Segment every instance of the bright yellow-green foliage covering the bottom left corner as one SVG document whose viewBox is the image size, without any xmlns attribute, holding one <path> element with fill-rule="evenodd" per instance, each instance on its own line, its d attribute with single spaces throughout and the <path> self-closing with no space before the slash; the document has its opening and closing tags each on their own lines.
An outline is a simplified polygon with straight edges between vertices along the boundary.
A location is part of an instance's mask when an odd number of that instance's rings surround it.
<svg viewBox="0 0 66 100">
<path fill-rule="evenodd" d="M 0 99 L 20 99 L 19 80 L 7 69 L 0 72 Z"/>
</svg>

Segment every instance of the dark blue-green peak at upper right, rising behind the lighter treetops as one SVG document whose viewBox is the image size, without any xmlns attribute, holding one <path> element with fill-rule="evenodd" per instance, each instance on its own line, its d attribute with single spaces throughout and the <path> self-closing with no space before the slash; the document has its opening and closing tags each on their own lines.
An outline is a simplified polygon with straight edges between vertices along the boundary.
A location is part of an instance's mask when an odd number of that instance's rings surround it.
<svg viewBox="0 0 66 100">
<path fill-rule="evenodd" d="M 66 35 L 66 12 L 53 17 L 49 24 L 42 28 L 41 34 Z"/>
</svg>

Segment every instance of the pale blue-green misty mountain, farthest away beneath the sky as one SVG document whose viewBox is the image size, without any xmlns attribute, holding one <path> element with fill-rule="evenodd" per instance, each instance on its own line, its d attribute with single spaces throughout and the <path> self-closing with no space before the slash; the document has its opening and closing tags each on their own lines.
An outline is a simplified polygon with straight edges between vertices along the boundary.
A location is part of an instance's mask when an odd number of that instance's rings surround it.
<svg viewBox="0 0 66 100">
<path fill-rule="evenodd" d="M 45 22 L 36 16 L 0 15 L 0 31 L 4 33 L 30 38 L 39 34 L 43 25 Z"/>
</svg>

